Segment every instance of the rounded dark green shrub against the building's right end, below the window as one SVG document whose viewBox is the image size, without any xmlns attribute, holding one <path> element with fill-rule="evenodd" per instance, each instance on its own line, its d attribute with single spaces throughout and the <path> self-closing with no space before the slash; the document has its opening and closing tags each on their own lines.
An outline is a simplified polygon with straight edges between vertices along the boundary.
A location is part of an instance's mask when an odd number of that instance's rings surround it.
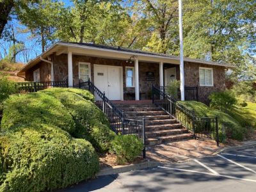
<svg viewBox="0 0 256 192">
<path fill-rule="evenodd" d="M 237 103 L 235 95 L 229 91 L 211 93 L 209 99 L 211 108 L 221 111 L 226 111 Z"/>
</svg>

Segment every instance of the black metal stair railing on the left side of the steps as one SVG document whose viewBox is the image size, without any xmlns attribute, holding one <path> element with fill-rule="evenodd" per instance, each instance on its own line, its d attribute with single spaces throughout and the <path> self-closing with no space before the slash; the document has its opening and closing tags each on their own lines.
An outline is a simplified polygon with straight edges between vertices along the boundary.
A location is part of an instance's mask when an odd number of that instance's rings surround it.
<svg viewBox="0 0 256 192">
<path fill-rule="evenodd" d="M 125 118 L 124 111 L 116 108 L 105 93 L 100 90 L 90 81 L 79 82 L 79 88 L 90 91 L 95 97 L 95 104 L 100 108 L 111 124 L 111 128 L 116 134 L 136 134 L 143 141 L 145 146 L 145 118 L 142 120 L 133 120 Z M 145 157 L 145 147 L 143 148 L 143 157 Z"/>
</svg>

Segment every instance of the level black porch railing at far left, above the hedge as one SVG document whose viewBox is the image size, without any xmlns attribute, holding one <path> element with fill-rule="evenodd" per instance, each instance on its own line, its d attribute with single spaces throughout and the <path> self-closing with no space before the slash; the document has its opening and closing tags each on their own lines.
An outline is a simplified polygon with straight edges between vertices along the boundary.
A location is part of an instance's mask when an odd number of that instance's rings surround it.
<svg viewBox="0 0 256 192">
<path fill-rule="evenodd" d="M 68 87 L 67 81 L 22 82 L 15 83 L 17 92 L 38 92 L 52 87 Z"/>
</svg>

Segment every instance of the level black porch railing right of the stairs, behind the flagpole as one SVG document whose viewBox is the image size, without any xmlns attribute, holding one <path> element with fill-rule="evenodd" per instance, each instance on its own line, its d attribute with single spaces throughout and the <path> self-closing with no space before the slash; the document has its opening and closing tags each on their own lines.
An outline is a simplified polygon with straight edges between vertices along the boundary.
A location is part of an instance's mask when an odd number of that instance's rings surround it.
<svg viewBox="0 0 256 192">
<path fill-rule="evenodd" d="M 168 92 L 168 86 L 160 86 L 159 90 L 170 95 L 170 93 Z M 198 100 L 198 87 L 185 86 L 184 95 L 185 95 L 185 100 Z M 177 89 L 177 95 L 175 95 L 175 98 L 176 97 L 178 100 L 180 99 L 180 89 Z"/>
</svg>

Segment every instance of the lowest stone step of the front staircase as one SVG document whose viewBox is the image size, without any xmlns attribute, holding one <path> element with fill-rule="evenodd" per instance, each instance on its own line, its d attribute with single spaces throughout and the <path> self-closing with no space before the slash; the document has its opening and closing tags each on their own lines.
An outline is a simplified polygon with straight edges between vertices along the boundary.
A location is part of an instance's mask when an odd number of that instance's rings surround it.
<svg viewBox="0 0 256 192">
<path fill-rule="evenodd" d="M 161 131 L 146 131 L 146 138 L 159 138 L 161 136 L 171 136 L 177 134 L 184 134 L 188 132 L 188 129 L 168 129 Z"/>
</svg>

